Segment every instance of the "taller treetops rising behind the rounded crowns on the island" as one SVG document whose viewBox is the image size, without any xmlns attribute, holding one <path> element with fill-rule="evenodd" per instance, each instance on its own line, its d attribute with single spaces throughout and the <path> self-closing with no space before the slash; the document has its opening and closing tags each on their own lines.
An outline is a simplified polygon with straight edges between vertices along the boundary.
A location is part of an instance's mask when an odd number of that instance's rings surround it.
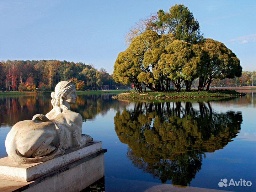
<svg viewBox="0 0 256 192">
<path fill-rule="evenodd" d="M 182 4 L 171 6 L 169 12 L 159 10 L 156 14 L 136 23 L 127 33 L 126 42 L 131 43 L 133 38 L 146 30 L 155 31 L 159 35 L 171 33 L 176 39 L 193 44 L 203 40 L 198 21 L 188 7 Z"/>
</svg>

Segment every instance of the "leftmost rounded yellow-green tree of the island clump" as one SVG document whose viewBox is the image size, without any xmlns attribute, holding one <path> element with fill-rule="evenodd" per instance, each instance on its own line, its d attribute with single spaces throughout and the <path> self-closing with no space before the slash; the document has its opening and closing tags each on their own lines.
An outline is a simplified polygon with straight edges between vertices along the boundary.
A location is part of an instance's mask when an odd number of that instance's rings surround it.
<svg viewBox="0 0 256 192">
<path fill-rule="evenodd" d="M 170 87 L 169 79 L 158 68 L 164 48 L 174 40 L 172 35 L 162 35 L 147 30 L 133 39 L 126 51 L 119 53 L 114 64 L 113 78 L 116 82 L 134 84 L 142 92 L 142 85 L 152 91 L 165 91 Z M 144 91 L 145 91 L 144 89 Z"/>
</svg>

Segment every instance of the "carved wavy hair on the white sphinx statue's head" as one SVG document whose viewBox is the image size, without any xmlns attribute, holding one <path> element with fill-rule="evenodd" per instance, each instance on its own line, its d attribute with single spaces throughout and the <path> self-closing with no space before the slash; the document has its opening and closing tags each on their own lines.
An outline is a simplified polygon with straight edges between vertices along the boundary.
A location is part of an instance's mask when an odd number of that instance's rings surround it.
<svg viewBox="0 0 256 192">
<path fill-rule="evenodd" d="M 57 84 L 57 86 L 58 86 L 58 84 Z M 68 95 L 71 90 L 75 89 L 75 85 L 74 84 L 70 84 L 69 86 L 66 86 L 66 87 L 64 87 L 63 89 L 60 89 L 60 90 L 56 90 L 56 87 L 55 87 L 55 91 L 51 93 L 51 97 L 52 97 L 51 103 L 52 103 L 52 106 L 56 110 L 58 110 L 59 112 L 62 112 L 63 109 L 69 110 L 68 107 L 63 105 L 63 97 Z"/>
</svg>

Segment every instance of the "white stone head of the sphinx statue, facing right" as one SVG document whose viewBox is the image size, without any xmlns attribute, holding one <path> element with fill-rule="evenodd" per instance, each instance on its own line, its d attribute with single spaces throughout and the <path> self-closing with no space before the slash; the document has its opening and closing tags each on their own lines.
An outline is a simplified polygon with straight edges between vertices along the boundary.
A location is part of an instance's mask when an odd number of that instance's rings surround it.
<svg viewBox="0 0 256 192">
<path fill-rule="evenodd" d="M 71 104 L 76 102 L 76 90 L 72 81 L 60 81 L 51 93 L 52 105 L 60 112 L 62 109 L 69 109 Z M 67 105 L 68 104 L 68 105 Z"/>
</svg>

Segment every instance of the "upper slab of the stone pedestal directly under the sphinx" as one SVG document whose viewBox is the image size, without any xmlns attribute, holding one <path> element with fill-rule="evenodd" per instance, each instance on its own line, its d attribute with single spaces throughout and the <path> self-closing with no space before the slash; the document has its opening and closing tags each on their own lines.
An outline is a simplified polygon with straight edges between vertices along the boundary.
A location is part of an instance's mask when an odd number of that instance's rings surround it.
<svg viewBox="0 0 256 192">
<path fill-rule="evenodd" d="M 0 178 L 14 181 L 32 181 L 50 171 L 80 160 L 100 150 L 102 150 L 102 142 L 94 141 L 86 144 L 82 148 L 67 149 L 64 155 L 55 156 L 53 159 L 45 162 L 19 165 L 7 157 L 2 158 L 0 159 Z M 94 163 L 97 164 L 97 162 Z M 94 169 L 95 165 L 92 164 L 91 166 Z M 86 167 L 85 171 L 90 169 L 90 167 Z"/>
</svg>

